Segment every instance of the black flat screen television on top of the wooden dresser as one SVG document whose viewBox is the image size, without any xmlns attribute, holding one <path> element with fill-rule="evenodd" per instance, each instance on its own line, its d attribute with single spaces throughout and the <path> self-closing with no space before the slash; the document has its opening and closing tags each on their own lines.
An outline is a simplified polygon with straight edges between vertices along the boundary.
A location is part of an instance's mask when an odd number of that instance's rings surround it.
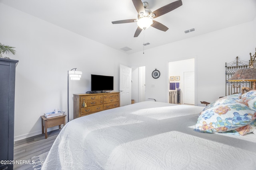
<svg viewBox="0 0 256 170">
<path fill-rule="evenodd" d="M 114 76 L 91 74 L 91 91 L 106 92 L 114 90 Z"/>
</svg>

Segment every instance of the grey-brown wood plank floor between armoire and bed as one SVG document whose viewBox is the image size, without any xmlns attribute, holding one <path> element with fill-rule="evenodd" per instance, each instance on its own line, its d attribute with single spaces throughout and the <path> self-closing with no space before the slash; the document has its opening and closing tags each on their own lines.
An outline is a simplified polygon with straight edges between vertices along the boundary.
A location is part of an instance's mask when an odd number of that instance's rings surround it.
<svg viewBox="0 0 256 170">
<path fill-rule="evenodd" d="M 47 133 L 48 138 L 44 139 L 44 134 L 36 135 L 14 142 L 14 162 L 16 160 L 31 161 L 33 156 L 38 156 L 47 152 L 52 147 L 60 129 Z M 34 170 L 32 164 L 14 164 L 14 170 Z"/>
</svg>

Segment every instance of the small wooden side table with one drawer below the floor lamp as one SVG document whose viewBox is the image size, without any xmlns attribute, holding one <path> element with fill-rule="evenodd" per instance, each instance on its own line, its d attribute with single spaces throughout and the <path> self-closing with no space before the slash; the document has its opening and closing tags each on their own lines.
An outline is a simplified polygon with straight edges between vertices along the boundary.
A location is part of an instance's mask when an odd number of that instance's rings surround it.
<svg viewBox="0 0 256 170">
<path fill-rule="evenodd" d="M 56 116 L 56 117 L 51 117 L 51 118 L 46 118 L 44 115 L 41 116 L 42 118 L 42 134 L 44 133 L 45 139 L 47 139 L 47 128 L 49 127 L 54 127 L 63 124 L 63 126 L 66 124 L 66 115 L 61 115 L 61 116 Z"/>
</svg>

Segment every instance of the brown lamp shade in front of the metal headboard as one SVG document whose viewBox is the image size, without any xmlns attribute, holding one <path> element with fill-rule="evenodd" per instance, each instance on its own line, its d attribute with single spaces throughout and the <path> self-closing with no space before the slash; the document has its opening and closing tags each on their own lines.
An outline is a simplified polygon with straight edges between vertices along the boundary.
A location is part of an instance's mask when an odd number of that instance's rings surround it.
<svg viewBox="0 0 256 170">
<path fill-rule="evenodd" d="M 236 73 L 228 79 L 230 82 L 234 81 L 248 81 L 255 82 L 256 81 L 256 70 L 254 68 L 243 68 L 237 70 Z"/>
</svg>

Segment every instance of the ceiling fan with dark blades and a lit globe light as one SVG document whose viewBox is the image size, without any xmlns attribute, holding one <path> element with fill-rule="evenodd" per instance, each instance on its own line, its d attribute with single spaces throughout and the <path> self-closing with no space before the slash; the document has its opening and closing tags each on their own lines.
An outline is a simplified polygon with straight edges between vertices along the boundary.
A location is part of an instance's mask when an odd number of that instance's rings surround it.
<svg viewBox="0 0 256 170">
<path fill-rule="evenodd" d="M 162 6 L 161 8 L 151 11 L 148 9 L 148 2 L 141 2 L 141 0 L 132 0 L 134 7 L 138 12 L 138 19 L 129 19 L 129 20 L 119 20 L 119 21 L 112 21 L 113 24 L 116 23 L 130 23 L 130 22 L 137 22 L 138 28 L 135 31 L 134 37 L 138 37 L 142 29 L 147 29 L 148 27 L 152 26 L 156 29 L 161 31 L 167 31 L 169 28 L 159 23 L 158 21 L 153 20 L 153 18 L 162 16 L 176 8 L 182 6 L 182 1 L 177 0 L 172 2 L 166 6 Z"/>
</svg>

